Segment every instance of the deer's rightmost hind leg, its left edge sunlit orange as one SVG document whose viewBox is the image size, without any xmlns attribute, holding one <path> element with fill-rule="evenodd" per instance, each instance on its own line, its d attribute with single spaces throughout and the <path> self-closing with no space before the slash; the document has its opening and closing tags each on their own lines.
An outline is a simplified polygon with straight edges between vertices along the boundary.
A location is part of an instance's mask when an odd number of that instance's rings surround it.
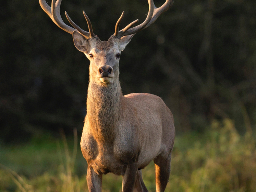
<svg viewBox="0 0 256 192">
<path fill-rule="evenodd" d="M 156 192 L 164 192 L 171 171 L 171 154 L 163 157 L 161 154 L 154 160 L 156 172 Z"/>
</svg>

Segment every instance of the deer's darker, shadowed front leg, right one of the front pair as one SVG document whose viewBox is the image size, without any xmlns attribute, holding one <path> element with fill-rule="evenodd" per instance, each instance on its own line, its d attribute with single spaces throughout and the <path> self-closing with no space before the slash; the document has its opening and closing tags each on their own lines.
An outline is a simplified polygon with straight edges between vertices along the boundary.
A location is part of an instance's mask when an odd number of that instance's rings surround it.
<svg viewBox="0 0 256 192">
<path fill-rule="evenodd" d="M 130 163 L 129 166 L 126 168 L 125 173 L 123 175 L 122 192 L 132 192 L 133 191 L 137 170 L 138 170 L 138 168 L 137 168 L 136 162 Z"/>
</svg>

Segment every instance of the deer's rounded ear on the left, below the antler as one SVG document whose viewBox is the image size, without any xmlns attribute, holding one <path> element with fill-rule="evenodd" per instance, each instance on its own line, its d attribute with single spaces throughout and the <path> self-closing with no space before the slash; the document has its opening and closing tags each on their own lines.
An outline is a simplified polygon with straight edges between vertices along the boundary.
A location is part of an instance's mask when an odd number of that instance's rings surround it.
<svg viewBox="0 0 256 192">
<path fill-rule="evenodd" d="M 73 32 L 73 40 L 76 49 L 78 49 L 79 51 L 82 51 L 84 53 L 88 53 L 90 51 L 90 44 L 88 40 L 77 31 Z"/>
</svg>

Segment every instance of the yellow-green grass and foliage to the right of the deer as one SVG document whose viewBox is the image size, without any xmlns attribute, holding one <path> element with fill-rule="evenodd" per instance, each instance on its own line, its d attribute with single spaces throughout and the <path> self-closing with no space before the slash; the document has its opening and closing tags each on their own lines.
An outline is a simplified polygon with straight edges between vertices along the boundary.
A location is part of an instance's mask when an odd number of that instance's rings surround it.
<svg viewBox="0 0 256 192">
<path fill-rule="evenodd" d="M 178 142 L 181 138 L 178 138 Z M 256 148 L 252 136 L 240 136 L 233 122 L 213 121 L 211 130 L 186 151 L 173 151 L 167 191 L 254 191 Z M 176 143 L 178 144 L 178 143 Z"/>
</svg>

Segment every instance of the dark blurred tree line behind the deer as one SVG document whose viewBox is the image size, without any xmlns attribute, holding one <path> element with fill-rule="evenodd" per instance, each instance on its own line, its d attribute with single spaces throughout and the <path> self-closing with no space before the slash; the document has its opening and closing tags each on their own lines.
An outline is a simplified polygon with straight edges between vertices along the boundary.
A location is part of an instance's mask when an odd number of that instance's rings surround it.
<svg viewBox="0 0 256 192">
<path fill-rule="evenodd" d="M 155 0 L 157 6 L 164 0 Z M 0 138 L 16 141 L 45 131 L 82 130 L 89 61 L 38 1 L 2 2 L 0 16 Z M 50 4 L 50 0 L 48 0 Z M 122 26 L 143 21 L 146 0 L 63 0 L 64 11 L 107 40 L 122 11 Z M 121 27 L 122 27 L 121 26 Z M 177 132 L 204 131 L 230 118 L 240 132 L 256 123 L 256 2 L 175 1 L 137 33 L 120 60 L 124 94 L 159 95 L 172 110 Z M 25 136 L 25 137 L 24 137 Z"/>
</svg>

